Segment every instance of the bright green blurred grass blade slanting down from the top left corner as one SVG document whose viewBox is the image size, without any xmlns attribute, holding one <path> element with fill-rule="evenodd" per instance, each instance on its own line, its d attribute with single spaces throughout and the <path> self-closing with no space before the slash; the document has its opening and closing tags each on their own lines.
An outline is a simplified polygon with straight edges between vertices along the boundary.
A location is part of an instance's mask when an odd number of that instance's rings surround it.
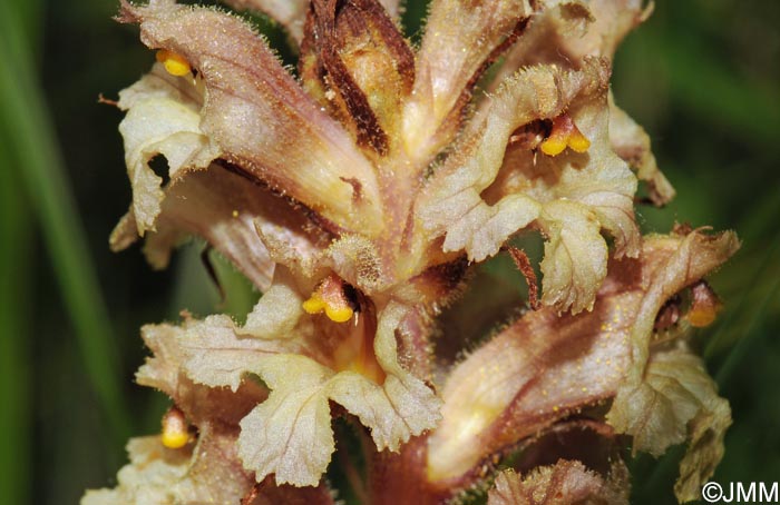
<svg viewBox="0 0 780 505">
<path fill-rule="evenodd" d="M 40 224 L 66 309 L 76 328 L 86 373 L 117 438 L 130 433 L 116 346 L 106 306 L 91 267 L 85 232 L 66 179 L 43 92 L 31 65 L 18 12 L 0 2 L 0 121 L 2 141 L 23 160 L 16 169 Z"/>
</svg>

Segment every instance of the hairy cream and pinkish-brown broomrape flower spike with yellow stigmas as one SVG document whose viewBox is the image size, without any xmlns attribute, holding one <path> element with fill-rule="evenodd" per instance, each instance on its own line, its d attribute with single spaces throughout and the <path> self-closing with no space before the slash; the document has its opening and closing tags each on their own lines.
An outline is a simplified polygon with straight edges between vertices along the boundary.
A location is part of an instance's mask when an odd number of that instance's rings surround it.
<svg viewBox="0 0 780 505">
<path fill-rule="evenodd" d="M 121 3 L 157 63 L 119 95 L 133 202 L 110 241 L 162 268 L 201 237 L 263 295 L 242 324 L 142 329 L 137 380 L 174 406 L 82 503 L 626 503 L 626 449 L 685 442 L 695 499 L 731 416 L 690 329 L 739 241 L 637 228 L 674 191 L 610 75 L 651 8 L 432 0 L 416 47 L 398 0 L 227 3 L 279 21 L 298 69 L 236 14 Z M 544 238 L 538 297 L 519 232 Z M 465 341 L 442 310 L 496 255 L 529 295 Z"/>
</svg>

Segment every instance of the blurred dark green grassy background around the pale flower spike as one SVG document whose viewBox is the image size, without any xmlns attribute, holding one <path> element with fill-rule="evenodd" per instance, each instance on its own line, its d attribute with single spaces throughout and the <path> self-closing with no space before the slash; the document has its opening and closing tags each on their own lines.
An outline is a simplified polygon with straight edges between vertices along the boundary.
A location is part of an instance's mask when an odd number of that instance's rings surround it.
<svg viewBox="0 0 780 505">
<path fill-rule="evenodd" d="M 411 2 L 410 32 L 423 12 Z M 165 400 L 133 384 L 138 328 L 182 308 L 241 315 L 256 298 L 202 246 L 152 271 L 107 237 L 130 201 L 115 98 L 154 56 L 110 20 L 114 0 L 0 0 L 0 503 L 76 503 L 113 484 L 129 434 Z M 744 241 L 713 279 L 727 309 L 698 335 L 734 426 L 715 481 L 780 481 L 780 1 L 659 0 L 618 52 L 615 96 L 677 189 L 644 229 L 674 220 Z M 281 42 L 277 29 L 272 40 Z M 640 457 L 634 503 L 673 503 L 673 450 Z"/>
</svg>

